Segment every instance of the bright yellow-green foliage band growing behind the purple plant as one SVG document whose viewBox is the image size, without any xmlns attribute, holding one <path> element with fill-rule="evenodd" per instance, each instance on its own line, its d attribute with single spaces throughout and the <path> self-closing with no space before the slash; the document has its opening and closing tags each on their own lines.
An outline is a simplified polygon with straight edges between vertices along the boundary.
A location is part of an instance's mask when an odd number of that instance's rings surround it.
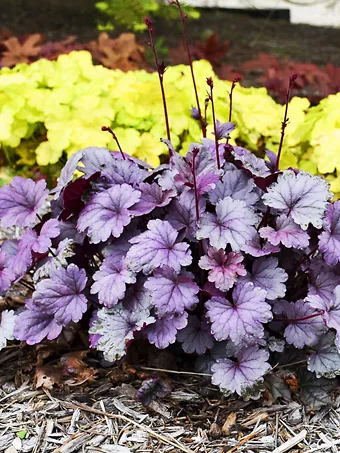
<svg viewBox="0 0 340 453">
<path fill-rule="evenodd" d="M 216 117 L 226 121 L 230 83 L 218 80 L 206 61 L 195 62 L 194 70 L 202 105 L 206 77 L 213 76 Z M 168 68 L 165 90 L 173 144 L 186 150 L 201 137 L 199 123 L 190 115 L 195 102 L 189 68 Z M 336 192 L 340 191 L 340 180 L 334 176 L 334 170 L 340 169 L 339 107 L 340 95 L 313 108 L 307 99 L 293 98 L 281 161 L 284 168 L 333 173 L 330 179 Z M 284 107 L 264 88 L 238 86 L 232 139 L 254 151 L 259 147 L 276 151 L 283 113 Z M 211 123 L 210 111 L 208 120 Z M 27 165 L 36 159 L 44 166 L 56 163 L 63 152 L 70 156 L 87 146 L 116 149 L 111 136 L 101 131 L 103 125 L 114 129 L 125 152 L 158 165 L 159 156 L 167 152 L 159 141 L 166 133 L 158 75 L 94 66 L 84 51 L 61 55 L 55 62 L 39 60 L 0 71 L 0 144 L 13 161 L 19 158 Z M 211 126 L 208 137 L 213 138 Z"/>
</svg>

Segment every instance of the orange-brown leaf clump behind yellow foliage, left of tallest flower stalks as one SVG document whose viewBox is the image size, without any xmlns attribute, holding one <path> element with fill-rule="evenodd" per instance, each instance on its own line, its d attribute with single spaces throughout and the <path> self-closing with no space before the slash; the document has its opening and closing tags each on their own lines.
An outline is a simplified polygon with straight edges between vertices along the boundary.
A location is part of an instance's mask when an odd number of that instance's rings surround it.
<svg viewBox="0 0 340 453">
<path fill-rule="evenodd" d="M 103 32 L 88 47 L 94 59 L 107 68 L 130 71 L 146 67 L 144 46 L 136 42 L 133 33 L 122 33 L 118 38 L 111 39 Z"/>
</svg>

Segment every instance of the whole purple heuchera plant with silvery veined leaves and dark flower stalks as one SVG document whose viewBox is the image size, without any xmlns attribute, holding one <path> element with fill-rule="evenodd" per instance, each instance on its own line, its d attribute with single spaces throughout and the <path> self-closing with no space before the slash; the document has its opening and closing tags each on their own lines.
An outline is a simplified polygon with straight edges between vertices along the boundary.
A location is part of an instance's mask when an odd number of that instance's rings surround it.
<svg viewBox="0 0 340 453">
<path fill-rule="evenodd" d="M 215 139 L 185 157 L 167 127 L 169 163 L 155 169 L 104 128 L 119 152 L 77 152 L 50 192 L 22 177 L 1 188 L 1 226 L 21 236 L 1 245 L 0 291 L 27 279 L 34 288 L 24 309 L 2 312 L 0 348 L 81 322 L 110 362 L 140 339 L 177 342 L 227 394 L 258 397 L 284 349 L 317 377 L 340 374 L 340 201 L 325 179 L 279 170 L 287 121 L 286 109 L 267 159 L 228 144 L 230 121 L 216 120 Z"/>
</svg>

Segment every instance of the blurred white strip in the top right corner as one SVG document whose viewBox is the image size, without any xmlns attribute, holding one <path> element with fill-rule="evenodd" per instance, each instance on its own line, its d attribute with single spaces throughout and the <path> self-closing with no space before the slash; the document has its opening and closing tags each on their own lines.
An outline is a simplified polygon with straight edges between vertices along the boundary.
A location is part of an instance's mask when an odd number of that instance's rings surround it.
<svg viewBox="0 0 340 453">
<path fill-rule="evenodd" d="M 339 0 L 186 0 L 198 7 L 289 9 L 293 24 L 340 27 Z"/>
</svg>

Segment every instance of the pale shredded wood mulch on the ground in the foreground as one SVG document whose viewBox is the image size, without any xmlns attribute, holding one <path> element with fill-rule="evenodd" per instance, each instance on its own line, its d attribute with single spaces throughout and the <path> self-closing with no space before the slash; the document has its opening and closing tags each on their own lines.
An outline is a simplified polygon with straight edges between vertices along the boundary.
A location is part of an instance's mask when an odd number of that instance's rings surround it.
<svg viewBox="0 0 340 453">
<path fill-rule="evenodd" d="M 20 346 L 0 352 L 0 451 L 104 453 L 337 452 L 340 409 L 307 411 L 225 398 L 200 376 L 169 373 L 172 392 L 147 408 L 136 384 L 114 383 L 111 367 L 89 383 L 36 389 L 20 373 Z M 18 366 L 19 365 L 19 366 Z M 111 379 L 108 377 L 111 375 Z"/>
</svg>

